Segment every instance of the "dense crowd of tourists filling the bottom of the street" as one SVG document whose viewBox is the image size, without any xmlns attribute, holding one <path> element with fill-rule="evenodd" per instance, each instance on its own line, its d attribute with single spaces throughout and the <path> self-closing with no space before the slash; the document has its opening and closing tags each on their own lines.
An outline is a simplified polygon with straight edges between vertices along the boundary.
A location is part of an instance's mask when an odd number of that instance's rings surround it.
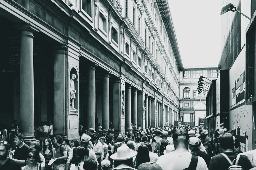
<svg viewBox="0 0 256 170">
<path fill-rule="evenodd" d="M 80 141 L 69 141 L 49 136 L 46 127 L 48 136 L 30 148 L 18 127 L 12 128 L 14 140 L 0 141 L 1 170 L 256 170 L 256 150 L 238 153 L 240 143 L 227 129 L 217 129 L 210 138 L 203 127 L 131 125 L 123 135 L 99 124 L 97 132 L 79 128 Z"/>
</svg>

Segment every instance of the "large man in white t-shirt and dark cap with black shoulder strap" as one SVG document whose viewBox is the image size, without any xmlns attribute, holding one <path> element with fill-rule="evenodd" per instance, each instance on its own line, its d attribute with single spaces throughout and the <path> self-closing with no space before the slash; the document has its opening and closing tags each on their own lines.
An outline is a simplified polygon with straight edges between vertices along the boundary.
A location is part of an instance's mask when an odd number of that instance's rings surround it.
<svg viewBox="0 0 256 170">
<path fill-rule="evenodd" d="M 188 168 L 192 160 L 192 164 L 196 163 L 193 157 L 197 157 L 196 170 L 208 169 L 204 159 L 200 156 L 193 156 L 188 152 L 188 132 L 183 129 L 176 130 L 173 134 L 175 151 L 167 153 L 159 157 L 156 162 L 163 170 L 183 170 Z M 195 159 L 196 160 L 196 159 Z"/>
</svg>

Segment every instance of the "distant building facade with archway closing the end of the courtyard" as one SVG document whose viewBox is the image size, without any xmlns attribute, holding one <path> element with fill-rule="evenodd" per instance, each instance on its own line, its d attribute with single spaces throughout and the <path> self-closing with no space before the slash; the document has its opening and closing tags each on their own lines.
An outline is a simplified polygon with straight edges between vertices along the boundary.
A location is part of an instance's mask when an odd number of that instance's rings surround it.
<svg viewBox="0 0 256 170">
<path fill-rule="evenodd" d="M 198 119 L 206 117 L 206 96 L 211 81 L 218 75 L 217 66 L 184 67 L 180 72 L 180 115 L 174 117 L 174 122 L 182 125 L 199 126 Z M 204 90 L 198 94 L 198 80 L 204 76 Z M 208 83 L 207 83 L 208 82 Z"/>
</svg>

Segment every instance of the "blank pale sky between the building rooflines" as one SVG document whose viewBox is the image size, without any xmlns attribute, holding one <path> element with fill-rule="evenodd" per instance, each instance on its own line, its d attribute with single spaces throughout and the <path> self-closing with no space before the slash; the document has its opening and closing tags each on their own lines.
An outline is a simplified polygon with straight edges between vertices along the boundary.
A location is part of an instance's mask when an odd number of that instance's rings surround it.
<svg viewBox="0 0 256 170">
<path fill-rule="evenodd" d="M 168 0 L 183 66 L 218 65 L 221 1 Z"/>
</svg>

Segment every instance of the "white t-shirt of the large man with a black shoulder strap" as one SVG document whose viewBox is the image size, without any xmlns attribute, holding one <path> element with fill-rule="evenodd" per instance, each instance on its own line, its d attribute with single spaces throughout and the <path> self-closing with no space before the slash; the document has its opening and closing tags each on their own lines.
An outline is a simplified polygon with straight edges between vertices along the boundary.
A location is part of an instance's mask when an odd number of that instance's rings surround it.
<svg viewBox="0 0 256 170">
<path fill-rule="evenodd" d="M 188 168 L 191 161 L 191 153 L 183 152 L 183 153 L 174 153 L 170 152 L 165 155 L 162 155 L 157 160 L 157 164 L 159 164 L 163 170 L 183 170 Z M 207 170 L 207 165 L 204 159 L 198 156 L 196 170 Z"/>
</svg>

